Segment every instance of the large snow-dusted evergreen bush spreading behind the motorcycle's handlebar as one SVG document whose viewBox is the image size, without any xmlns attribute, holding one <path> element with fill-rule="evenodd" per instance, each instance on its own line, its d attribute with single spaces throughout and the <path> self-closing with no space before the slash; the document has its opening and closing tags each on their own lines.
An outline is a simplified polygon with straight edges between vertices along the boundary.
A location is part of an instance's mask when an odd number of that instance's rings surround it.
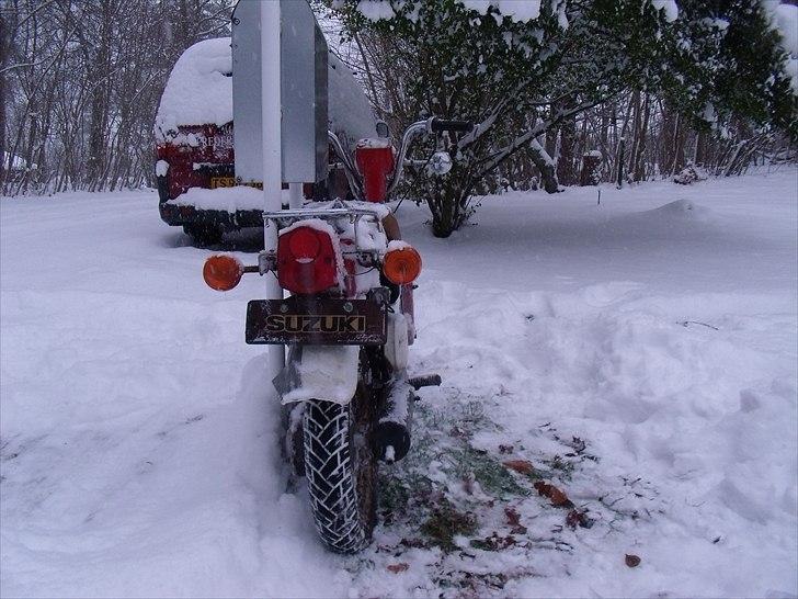
<svg viewBox="0 0 798 599">
<path fill-rule="evenodd" d="M 756 2 L 329 1 L 366 46 L 371 92 L 395 128 L 430 115 L 480 123 L 438 140 L 453 150 L 448 177 L 420 173 L 409 185 L 440 237 L 468 217 L 471 194 L 499 189 L 497 170 L 520 152 L 556 192 L 543 137 L 627 90 L 657 93 L 707 129 L 732 114 L 798 127 L 784 50 Z"/>
</svg>

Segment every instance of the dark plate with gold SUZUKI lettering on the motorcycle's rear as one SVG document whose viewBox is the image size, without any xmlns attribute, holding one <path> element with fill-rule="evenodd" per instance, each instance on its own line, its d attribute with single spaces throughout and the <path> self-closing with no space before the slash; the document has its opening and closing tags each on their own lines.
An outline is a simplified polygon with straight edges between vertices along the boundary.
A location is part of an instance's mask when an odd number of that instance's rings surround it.
<svg viewBox="0 0 798 599">
<path fill-rule="evenodd" d="M 381 346 L 384 307 L 371 300 L 288 297 L 247 305 L 247 343 Z"/>
</svg>

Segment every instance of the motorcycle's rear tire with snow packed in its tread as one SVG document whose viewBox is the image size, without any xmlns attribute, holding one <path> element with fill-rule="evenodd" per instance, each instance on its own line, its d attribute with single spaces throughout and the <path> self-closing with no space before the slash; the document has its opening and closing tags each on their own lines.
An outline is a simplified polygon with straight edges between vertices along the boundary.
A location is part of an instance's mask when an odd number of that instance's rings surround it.
<svg viewBox="0 0 798 599">
<path fill-rule="evenodd" d="M 377 513 L 376 406 L 361 381 L 347 406 L 310 400 L 304 415 L 305 476 L 316 529 L 337 553 L 372 540 Z"/>
</svg>

